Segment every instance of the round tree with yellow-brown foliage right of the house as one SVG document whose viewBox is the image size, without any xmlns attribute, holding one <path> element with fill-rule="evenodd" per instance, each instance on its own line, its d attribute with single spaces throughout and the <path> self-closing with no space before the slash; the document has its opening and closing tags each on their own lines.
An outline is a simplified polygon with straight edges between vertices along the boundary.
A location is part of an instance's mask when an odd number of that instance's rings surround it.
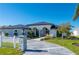
<svg viewBox="0 0 79 59">
<path fill-rule="evenodd" d="M 69 35 L 70 29 L 71 29 L 70 23 L 65 23 L 65 24 L 61 24 L 57 30 L 58 30 L 58 33 L 61 34 L 63 38 L 64 35 Z"/>
</svg>

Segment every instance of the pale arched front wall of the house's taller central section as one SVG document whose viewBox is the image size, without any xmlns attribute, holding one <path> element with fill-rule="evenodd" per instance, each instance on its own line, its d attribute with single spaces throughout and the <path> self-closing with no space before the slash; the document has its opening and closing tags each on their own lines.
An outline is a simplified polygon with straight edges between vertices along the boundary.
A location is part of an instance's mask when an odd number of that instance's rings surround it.
<svg viewBox="0 0 79 59">
<path fill-rule="evenodd" d="M 39 35 L 42 36 L 41 33 L 43 28 L 47 28 L 49 30 L 49 34 L 53 37 L 57 36 L 57 30 L 56 29 L 51 29 L 51 25 L 40 25 L 40 26 L 29 26 L 29 28 L 33 29 L 33 28 L 37 28 L 39 30 Z"/>
</svg>

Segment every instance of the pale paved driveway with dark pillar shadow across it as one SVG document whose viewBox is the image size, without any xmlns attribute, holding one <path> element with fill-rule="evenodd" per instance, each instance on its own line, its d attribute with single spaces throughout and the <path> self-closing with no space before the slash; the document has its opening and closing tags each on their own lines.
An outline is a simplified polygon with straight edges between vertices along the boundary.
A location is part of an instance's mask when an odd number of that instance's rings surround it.
<svg viewBox="0 0 79 59">
<path fill-rule="evenodd" d="M 74 55 L 67 48 L 45 41 L 28 40 L 24 55 Z"/>
</svg>

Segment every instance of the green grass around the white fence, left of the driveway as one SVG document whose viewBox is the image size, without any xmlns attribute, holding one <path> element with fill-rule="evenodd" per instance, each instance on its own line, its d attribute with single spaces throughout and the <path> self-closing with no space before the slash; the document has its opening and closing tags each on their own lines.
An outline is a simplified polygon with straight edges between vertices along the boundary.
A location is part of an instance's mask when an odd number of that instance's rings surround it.
<svg viewBox="0 0 79 59">
<path fill-rule="evenodd" d="M 12 43 L 4 42 L 2 48 L 0 48 L 0 55 L 21 55 L 22 51 L 18 47 L 18 44 L 16 44 L 16 48 L 13 48 Z"/>
</svg>

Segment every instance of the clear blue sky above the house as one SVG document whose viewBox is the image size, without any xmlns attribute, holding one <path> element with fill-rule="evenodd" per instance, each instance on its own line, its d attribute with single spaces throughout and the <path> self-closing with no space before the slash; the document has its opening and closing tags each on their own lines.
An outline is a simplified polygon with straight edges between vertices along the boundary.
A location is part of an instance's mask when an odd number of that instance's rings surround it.
<svg viewBox="0 0 79 59">
<path fill-rule="evenodd" d="M 56 25 L 70 22 L 79 27 L 79 20 L 72 17 L 77 4 L 0 4 L 0 25 L 50 22 Z"/>
</svg>

